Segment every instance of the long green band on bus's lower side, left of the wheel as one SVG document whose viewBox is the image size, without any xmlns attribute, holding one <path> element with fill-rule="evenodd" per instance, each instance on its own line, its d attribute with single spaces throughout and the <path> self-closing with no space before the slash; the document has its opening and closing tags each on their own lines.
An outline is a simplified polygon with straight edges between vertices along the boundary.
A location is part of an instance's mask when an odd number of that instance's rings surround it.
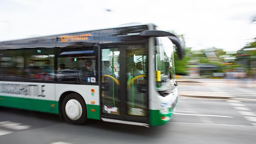
<svg viewBox="0 0 256 144">
<path fill-rule="evenodd" d="M 46 113 L 59 113 L 59 102 L 20 97 L 0 96 L 0 106 Z"/>
</svg>

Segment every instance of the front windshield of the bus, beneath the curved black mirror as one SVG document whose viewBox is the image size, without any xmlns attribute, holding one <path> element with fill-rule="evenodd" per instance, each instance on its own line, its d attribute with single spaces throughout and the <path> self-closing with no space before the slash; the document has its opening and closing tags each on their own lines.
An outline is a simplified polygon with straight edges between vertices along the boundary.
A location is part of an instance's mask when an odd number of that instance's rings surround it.
<svg viewBox="0 0 256 144">
<path fill-rule="evenodd" d="M 168 37 L 156 38 L 156 55 L 155 55 L 155 70 L 161 71 L 161 80 L 157 81 L 157 90 L 165 91 L 169 89 L 168 85 L 172 85 L 170 80 L 175 79 L 174 58 L 173 58 L 173 43 Z M 159 75 L 158 74 L 158 75 Z M 171 91 L 174 89 L 171 88 Z M 168 94 L 170 92 L 167 92 Z"/>
</svg>

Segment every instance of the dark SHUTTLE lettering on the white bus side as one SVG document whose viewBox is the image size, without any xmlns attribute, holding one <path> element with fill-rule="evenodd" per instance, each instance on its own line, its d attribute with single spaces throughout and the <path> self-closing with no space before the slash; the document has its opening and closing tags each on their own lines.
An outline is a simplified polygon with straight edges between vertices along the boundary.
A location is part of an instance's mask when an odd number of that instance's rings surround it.
<svg viewBox="0 0 256 144">
<path fill-rule="evenodd" d="M 30 97 L 45 97 L 45 85 L 0 83 L 0 93 Z"/>
</svg>

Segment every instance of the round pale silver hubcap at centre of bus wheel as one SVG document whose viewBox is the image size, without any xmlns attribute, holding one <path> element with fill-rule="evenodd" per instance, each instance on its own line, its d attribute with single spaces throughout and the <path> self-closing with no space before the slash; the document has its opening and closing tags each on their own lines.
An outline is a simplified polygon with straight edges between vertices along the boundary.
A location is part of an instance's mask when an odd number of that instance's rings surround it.
<svg viewBox="0 0 256 144">
<path fill-rule="evenodd" d="M 67 102 L 65 106 L 66 115 L 71 120 L 78 120 L 83 113 L 81 104 L 76 99 L 71 99 Z"/>
</svg>

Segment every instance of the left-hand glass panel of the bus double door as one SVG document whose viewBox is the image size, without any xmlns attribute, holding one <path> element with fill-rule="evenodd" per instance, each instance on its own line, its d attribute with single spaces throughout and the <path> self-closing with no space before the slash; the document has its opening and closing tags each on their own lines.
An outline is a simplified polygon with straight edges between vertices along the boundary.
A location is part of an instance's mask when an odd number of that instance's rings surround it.
<svg viewBox="0 0 256 144">
<path fill-rule="evenodd" d="M 120 115 L 119 48 L 101 50 L 102 111 Z"/>
</svg>

